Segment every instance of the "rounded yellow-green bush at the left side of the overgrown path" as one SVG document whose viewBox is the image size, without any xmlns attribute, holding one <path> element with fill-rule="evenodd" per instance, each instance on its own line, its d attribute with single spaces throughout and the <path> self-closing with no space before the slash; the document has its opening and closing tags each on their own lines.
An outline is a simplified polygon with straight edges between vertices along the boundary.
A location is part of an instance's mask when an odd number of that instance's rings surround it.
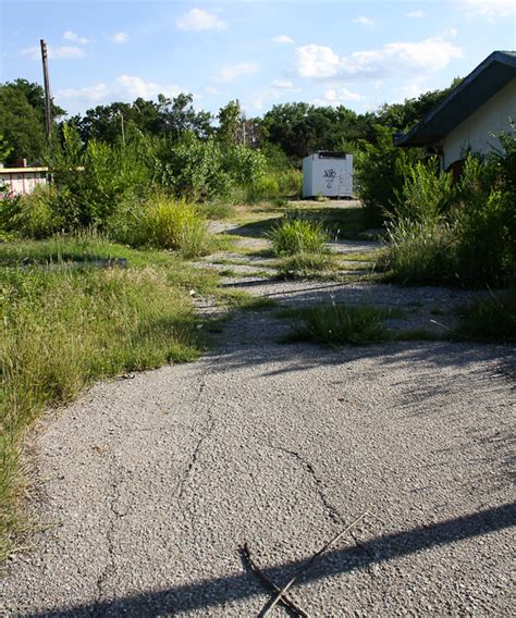
<svg viewBox="0 0 516 618">
<path fill-rule="evenodd" d="M 173 249 L 186 258 L 209 251 L 210 235 L 199 209 L 185 199 L 157 195 L 127 203 L 111 220 L 110 235 L 133 247 Z"/>
</svg>

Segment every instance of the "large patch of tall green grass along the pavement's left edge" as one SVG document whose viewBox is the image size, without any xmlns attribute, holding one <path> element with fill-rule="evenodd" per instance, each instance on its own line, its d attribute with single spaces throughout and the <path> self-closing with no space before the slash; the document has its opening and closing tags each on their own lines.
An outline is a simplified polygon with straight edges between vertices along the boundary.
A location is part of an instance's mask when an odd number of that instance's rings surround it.
<svg viewBox="0 0 516 618">
<path fill-rule="evenodd" d="M 125 269 L 99 259 L 125 258 Z M 125 371 L 195 358 L 204 343 L 189 289 L 217 277 L 163 251 L 100 238 L 0 246 L 0 561 L 15 547 L 22 438 L 47 406 Z"/>
</svg>

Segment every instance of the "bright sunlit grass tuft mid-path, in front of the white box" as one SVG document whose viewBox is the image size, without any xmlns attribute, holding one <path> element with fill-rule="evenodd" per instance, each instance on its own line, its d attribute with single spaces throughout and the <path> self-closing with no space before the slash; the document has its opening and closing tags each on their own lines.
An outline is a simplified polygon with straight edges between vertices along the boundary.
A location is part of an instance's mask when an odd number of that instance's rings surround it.
<svg viewBox="0 0 516 618">
<path fill-rule="evenodd" d="M 269 232 L 268 237 L 278 256 L 322 254 L 325 243 L 330 240 L 321 223 L 298 217 L 284 217 L 281 223 Z"/>
</svg>

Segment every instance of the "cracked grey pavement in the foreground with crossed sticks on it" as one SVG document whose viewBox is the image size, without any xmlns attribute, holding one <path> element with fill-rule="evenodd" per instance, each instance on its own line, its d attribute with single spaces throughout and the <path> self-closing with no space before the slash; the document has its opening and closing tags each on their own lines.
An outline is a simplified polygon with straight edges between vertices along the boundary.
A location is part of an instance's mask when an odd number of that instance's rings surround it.
<svg viewBox="0 0 516 618">
<path fill-rule="evenodd" d="M 192 364 L 102 383 L 36 435 L 5 616 L 509 616 L 514 349 L 281 345 L 241 312 Z M 281 607 L 274 616 L 285 615 Z"/>
</svg>

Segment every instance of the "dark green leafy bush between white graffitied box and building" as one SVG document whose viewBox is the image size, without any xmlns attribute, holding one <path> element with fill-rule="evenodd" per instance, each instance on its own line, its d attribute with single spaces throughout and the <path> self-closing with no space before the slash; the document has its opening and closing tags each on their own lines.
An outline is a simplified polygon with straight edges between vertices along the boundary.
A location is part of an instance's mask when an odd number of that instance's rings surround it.
<svg viewBox="0 0 516 618">
<path fill-rule="evenodd" d="M 355 156 L 355 190 L 368 211 L 371 224 L 379 224 L 385 211 L 398 203 L 410 164 L 421 159 L 418 149 L 394 146 L 392 133 L 374 127 L 374 144 L 360 141 Z"/>
</svg>

